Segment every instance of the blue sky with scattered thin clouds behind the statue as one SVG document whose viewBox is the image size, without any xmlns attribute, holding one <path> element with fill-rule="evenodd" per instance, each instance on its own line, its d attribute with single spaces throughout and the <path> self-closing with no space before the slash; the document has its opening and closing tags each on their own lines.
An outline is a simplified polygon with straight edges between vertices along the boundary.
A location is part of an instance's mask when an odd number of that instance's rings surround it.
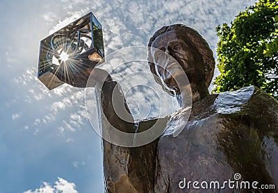
<svg viewBox="0 0 278 193">
<path fill-rule="evenodd" d="M 36 78 L 40 40 L 92 11 L 106 55 L 147 45 L 163 25 L 191 26 L 216 55 L 215 27 L 254 0 L 2 0 L 0 7 L 0 192 L 104 192 L 101 140 L 81 88 L 47 90 Z M 216 72 L 217 74 L 218 72 Z"/>
</svg>

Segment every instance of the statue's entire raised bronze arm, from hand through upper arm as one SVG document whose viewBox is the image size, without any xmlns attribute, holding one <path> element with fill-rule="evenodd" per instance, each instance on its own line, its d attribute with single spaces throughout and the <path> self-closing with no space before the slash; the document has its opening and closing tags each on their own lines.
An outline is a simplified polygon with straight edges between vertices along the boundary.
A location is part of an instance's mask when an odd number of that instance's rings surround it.
<svg viewBox="0 0 278 193">
<path fill-rule="evenodd" d="M 113 137 L 114 140 L 126 140 L 121 139 L 122 136 L 117 136 L 113 131 L 116 129 L 124 133 L 135 133 L 136 130 L 142 132 L 156 123 L 156 119 L 152 119 L 134 124 L 119 83 L 113 81 L 106 71 L 95 69 L 92 72 L 90 67 L 79 69 L 82 69 L 79 75 L 70 76 L 71 78 L 66 78 L 62 67 L 55 67 L 54 72 L 61 81 L 74 87 L 86 87 L 88 77 L 92 78 L 88 85 L 95 87 L 99 125 L 106 139 Z M 105 81 L 100 83 L 100 80 Z M 118 146 L 106 140 L 102 140 L 102 144 L 106 192 L 153 191 L 157 140 L 136 148 Z M 126 144 L 132 144 L 132 141 Z"/>
</svg>

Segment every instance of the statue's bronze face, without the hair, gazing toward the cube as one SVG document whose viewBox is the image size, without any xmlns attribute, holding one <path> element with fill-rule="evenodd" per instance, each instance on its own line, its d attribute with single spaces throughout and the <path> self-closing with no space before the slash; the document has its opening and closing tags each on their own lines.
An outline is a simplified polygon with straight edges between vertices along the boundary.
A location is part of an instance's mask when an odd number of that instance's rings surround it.
<svg viewBox="0 0 278 193">
<path fill-rule="evenodd" d="M 196 76 L 204 78 L 202 56 L 183 31 L 168 31 L 159 35 L 152 42 L 152 48 L 159 49 L 152 49 L 151 53 L 154 62 L 161 65 L 156 65 L 156 74 L 170 89 L 177 90 L 175 80 L 184 73 L 190 83 L 197 80 Z M 161 51 L 172 56 L 178 63 L 161 54 Z"/>
</svg>

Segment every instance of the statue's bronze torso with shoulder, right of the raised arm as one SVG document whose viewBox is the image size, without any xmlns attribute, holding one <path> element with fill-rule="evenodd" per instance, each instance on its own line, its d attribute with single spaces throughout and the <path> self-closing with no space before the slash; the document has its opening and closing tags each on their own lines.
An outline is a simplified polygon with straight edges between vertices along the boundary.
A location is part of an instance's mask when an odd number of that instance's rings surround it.
<svg viewBox="0 0 278 193">
<path fill-rule="evenodd" d="M 236 173 L 241 174 L 241 181 L 277 187 L 277 112 L 277 101 L 255 87 L 212 94 L 195 102 L 181 134 L 172 137 L 174 129 L 167 128 L 158 141 L 154 192 L 185 192 L 178 186 L 183 178 L 222 185 L 234 180 Z M 199 191 L 191 188 L 190 192 Z M 230 191 L 227 185 L 222 190 Z"/>
</svg>

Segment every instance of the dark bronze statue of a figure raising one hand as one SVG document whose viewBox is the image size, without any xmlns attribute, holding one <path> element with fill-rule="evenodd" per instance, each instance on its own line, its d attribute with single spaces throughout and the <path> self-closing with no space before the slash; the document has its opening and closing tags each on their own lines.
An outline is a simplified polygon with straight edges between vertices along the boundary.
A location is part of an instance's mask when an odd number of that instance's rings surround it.
<svg viewBox="0 0 278 193">
<path fill-rule="evenodd" d="M 263 192 L 263 190 L 222 187 L 224 181 L 257 181 L 260 185 L 275 185 L 278 188 L 278 103 L 256 87 L 244 87 L 235 92 L 209 94 L 208 85 L 213 78 L 215 61 L 206 41 L 197 31 L 182 24 L 164 26 L 149 41 L 149 47 L 165 51 L 179 62 L 186 72 L 192 90 L 193 106 L 190 118 L 183 131 L 173 137 L 172 125 L 183 120 L 183 90 L 177 86 L 174 76 L 179 76 L 175 67 L 167 70 L 149 62 L 151 72 L 163 90 L 177 97 L 180 110 L 175 119 L 165 117 L 161 127 L 165 132 L 150 144 L 140 147 L 123 147 L 103 141 L 104 175 L 107 192 Z M 152 52 L 149 52 L 149 57 Z M 167 68 L 167 67 L 166 67 Z M 57 69 L 55 69 L 57 71 Z M 62 81 L 85 87 L 92 69 L 83 69 L 82 76 Z M 98 87 L 99 77 L 107 77 Z M 109 124 L 126 133 L 134 133 L 133 117 L 123 121 L 111 106 L 113 90 L 122 97 L 118 83 L 103 70 L 93 75 L 98 99 Z M 174 90 L 174 93 L 173 93 Z M 129 110 L 128 110 L 129 112 Z M 139 123 L 138 131 L 151 127 L 156 119 Z M 106 128 L 106 123 L 102 123 Z M 186 181 L 185 181 L 186 179 Z M 193 183 L 197 181 L 195 188 Z M 208 182 L 208 184 L 202 182 Z M 207 187 L 210 181 L 218 181 L 214 188 Z M 238 181 L 238 182 L 240 182 Z M 225 184 L 225 183 L 224 183 Z M 184 189 L 186 188 L 186 189 Z M 231 190 L 232 189 L 232 190 Z M 269 190 L 269 192 L 275 190 Z M 276 190 L 277 191 L 277 190 Z"/>
</svg>

